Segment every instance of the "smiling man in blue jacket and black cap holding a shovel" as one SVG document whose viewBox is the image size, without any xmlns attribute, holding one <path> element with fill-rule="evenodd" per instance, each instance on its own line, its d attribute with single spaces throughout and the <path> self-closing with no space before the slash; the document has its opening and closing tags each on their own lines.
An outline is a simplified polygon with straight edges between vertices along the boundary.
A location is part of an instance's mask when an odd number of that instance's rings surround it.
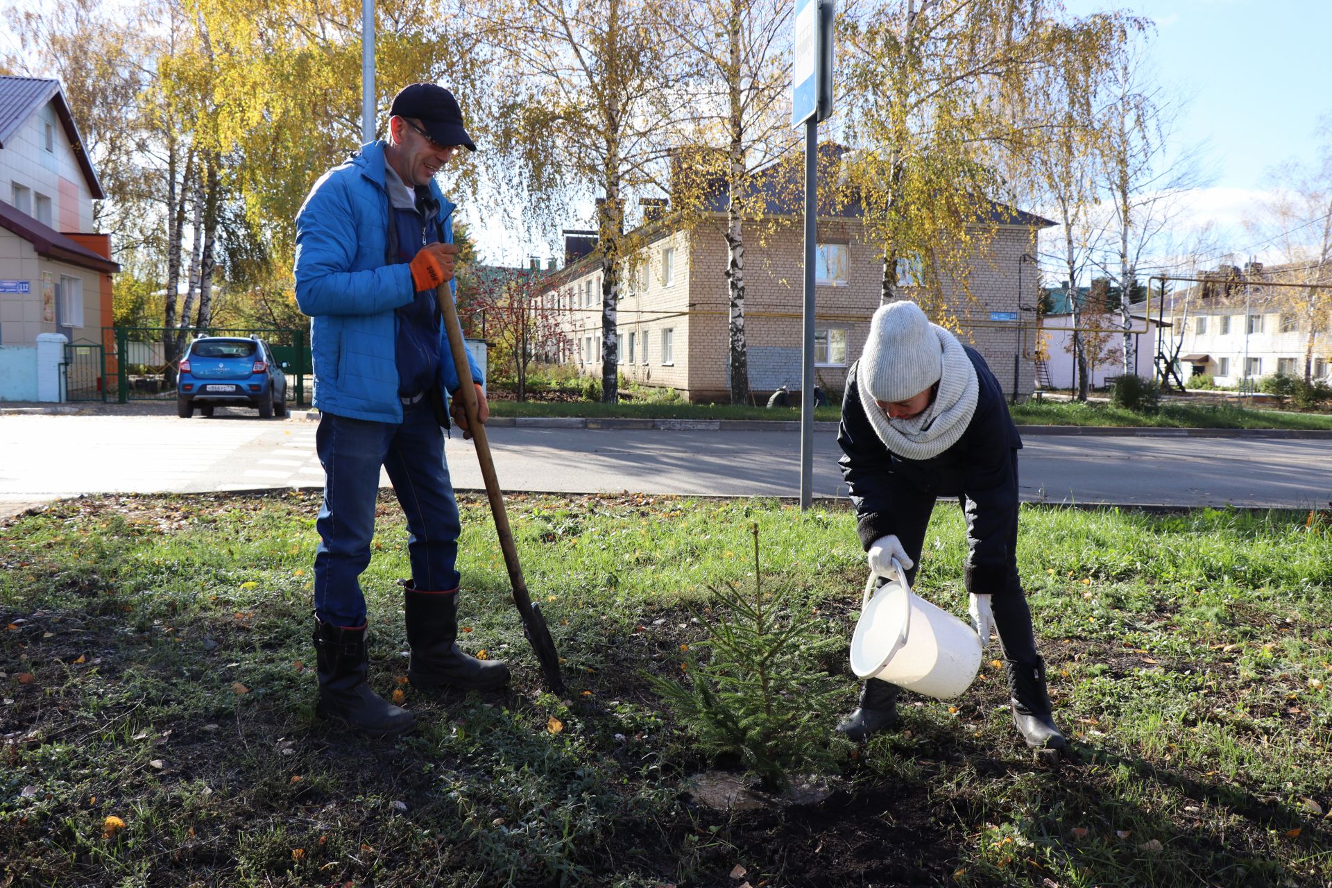
<svg viewBox="0 0 1332 888">
<path fill-rule="evenodd" d="M 436 302 L 440 284 L 454 290 L 454 206 L 434 174 L 462 146 L 477 146 L 453 95 L 434 84 L 404 88 L 389 113 L 388 138 L 324 173 L 296 217 L 296 301 L 312 318 L 316 446 L 326 475 L 314 555 L 317 711 L 380 736 L 414 723 L 366 683 L 360 575 L 370 562 L 380 466 L 408 521 L 409 680 L 474 690 L 509 680 L 503 663 L 456 643 L 461 527 L 432 409 L 460 385 Z M 472 374 L 481 377 L 474 365 Z M 477 398 L 485 422 L 480 385 Z M 461 399 L 450 413 L 468 433 Z"/>
</svg>

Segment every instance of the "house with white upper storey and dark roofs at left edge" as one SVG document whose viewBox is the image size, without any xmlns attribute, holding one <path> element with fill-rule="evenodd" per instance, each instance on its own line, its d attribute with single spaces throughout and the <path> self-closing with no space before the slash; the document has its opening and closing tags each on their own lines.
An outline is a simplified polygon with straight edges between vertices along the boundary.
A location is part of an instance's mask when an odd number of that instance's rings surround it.
<svg viewBox="0 0 1332 888">
<path fill-rule="evenodd" d="M 0 77 L 0 401 L 101 391 L 115 374 L 104 197 L 60 83 Z"/>
</svg>

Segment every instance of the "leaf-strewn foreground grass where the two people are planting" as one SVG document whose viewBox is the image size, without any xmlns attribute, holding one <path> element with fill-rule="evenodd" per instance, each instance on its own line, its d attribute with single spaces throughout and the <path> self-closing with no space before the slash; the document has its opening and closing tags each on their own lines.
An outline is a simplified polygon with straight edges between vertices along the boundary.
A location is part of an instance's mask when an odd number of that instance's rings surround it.
<svg viewBox="0 0 1332 888">
<path fill-rule="evenodd" d="M 846 643 L 863 555 L 847 511 L 775 502 L 515 497 L 527 586 L 570 699 L 539 686 L 484 501 L 462 503 L 462 646 L 511 692 L 429 698 L 398 678 L 396 503 L 364 576 L 372 682 L 420 730 L 313 715 L 317 498 L 69 501 L 0 527 L 0 885 L 1327 885 L 1332 881 L 1332 539 L 1324 514 L 1026 506 L 1019 564 L 1056 719 L 1080 764 L 1022 748 L 991 647 L 958 700 L 822 805 L 750 813 L 685 792 L 713 767 L 643 671 L 681 676 L 686 606 L 791 583 L 814 654 Z M 916 590 L 962 614 L 964 521 L 940 506 Z M 831 730 L 838 712 L 823 718 Z M 551 718 L 561 730 L 551 732 Z M 108 815 L 127 828 L 104 837 Z M 1048 880 L 1048 881 L 1047 881 Z"/>
</svg>

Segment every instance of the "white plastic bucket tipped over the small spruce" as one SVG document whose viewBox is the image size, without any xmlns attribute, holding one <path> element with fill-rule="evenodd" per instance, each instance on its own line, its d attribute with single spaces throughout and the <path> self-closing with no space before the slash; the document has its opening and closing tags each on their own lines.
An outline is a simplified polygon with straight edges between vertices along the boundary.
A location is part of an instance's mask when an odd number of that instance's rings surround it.
<svg viewBox="0 0 1332 888">
<path fill-rule="evenodd" d="M 860 620 L 851 636 L 851 670 L 916 694 L 947 700 L 958 696 L 980 668 L 980 638 L 967 623 L 935 607 L 907 586 L 906 571 L 874 596 L 874 574 L 864 586 Z"/>
</svg>

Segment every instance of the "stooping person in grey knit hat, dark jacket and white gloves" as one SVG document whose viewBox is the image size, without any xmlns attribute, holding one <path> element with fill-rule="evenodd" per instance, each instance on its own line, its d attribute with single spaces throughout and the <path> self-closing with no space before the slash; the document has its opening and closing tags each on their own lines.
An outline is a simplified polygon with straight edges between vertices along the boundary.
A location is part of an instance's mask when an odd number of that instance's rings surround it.
<svg viewBox="0 0 1332 888">
<path fill-rule="evenodd" d="M 847 373 L 842 477 L 851 490 L 870 570 L 915 578 L 938 497 L 967 518 L 963 579 L 980 643 L 999 632 L 1010 703 L 1027 746 L 1063 748 L 1036 654 L 1031 610 L 1018 576 L 1018 449 L 1022 439 L 984 359 L 915 302 L 880 306 L 864 351 Z M 838 724 L 863 740 L 898 722 L 898 687 L 868 679 L 860 706 Z"/>
</svg>

